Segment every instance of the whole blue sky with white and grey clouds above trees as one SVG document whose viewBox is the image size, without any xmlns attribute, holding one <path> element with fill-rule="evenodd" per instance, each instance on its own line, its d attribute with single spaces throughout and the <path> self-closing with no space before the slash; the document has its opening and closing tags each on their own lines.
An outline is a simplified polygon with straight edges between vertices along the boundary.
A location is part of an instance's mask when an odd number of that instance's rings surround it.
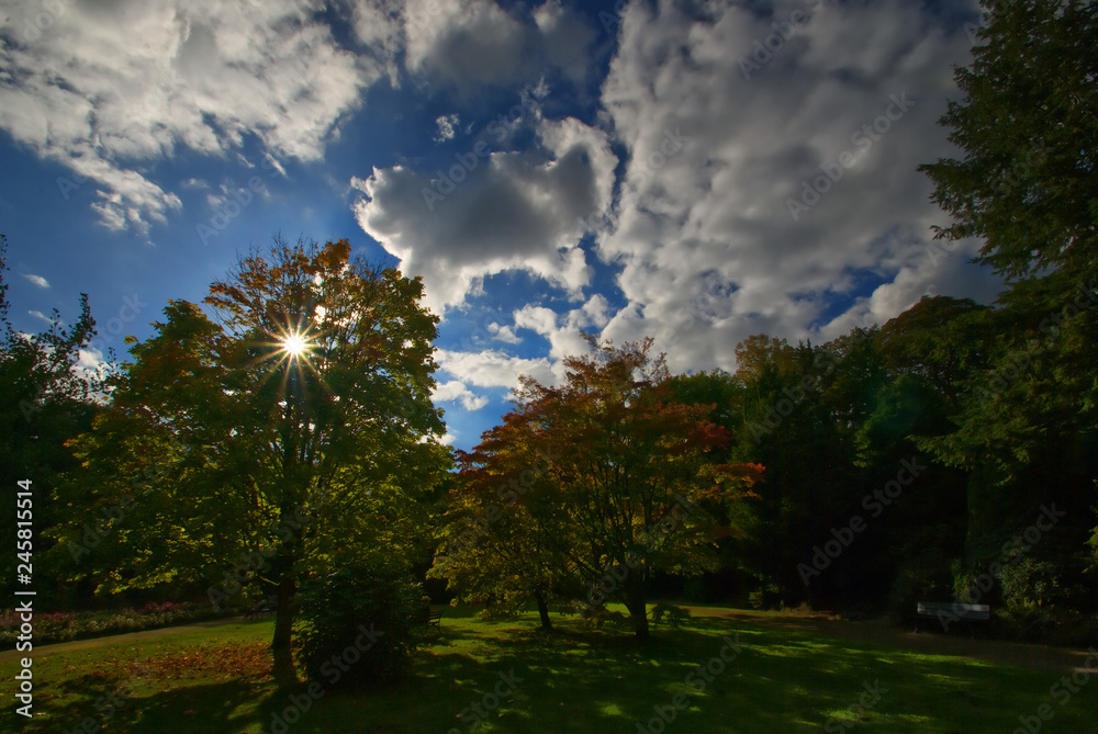
<svg viewBox="0 0 1098 734">
<path fill-rule="evenodd" d="M 87 363 L 281 233 L 419 275 L 461 449 L 581 330 L 672 372 L 994 301 L 921 163 L 959 156 L 971 0 L 0 0 L 10 317 Z"/>
</svg>

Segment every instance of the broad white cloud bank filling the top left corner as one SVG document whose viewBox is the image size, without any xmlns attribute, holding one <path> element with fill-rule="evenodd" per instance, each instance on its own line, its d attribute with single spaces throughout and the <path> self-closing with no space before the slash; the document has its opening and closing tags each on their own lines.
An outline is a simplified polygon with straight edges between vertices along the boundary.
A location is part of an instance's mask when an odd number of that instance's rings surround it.
<svg viewBox="0 0 1098 734">
<path fill-rule="evenodd" d="M 321 156 L 382 74 L 335 44 L 322 4 L 57 3 L 29 33 L 41 3 L 9 2 L 0 128 L 70 169 L 66 197 L 92 182 L 108 227 L 147 232 L 181 207 L 149 171 L 182 149 L 224 156 L 255 135 L 281 157 Z"/>
</svg>

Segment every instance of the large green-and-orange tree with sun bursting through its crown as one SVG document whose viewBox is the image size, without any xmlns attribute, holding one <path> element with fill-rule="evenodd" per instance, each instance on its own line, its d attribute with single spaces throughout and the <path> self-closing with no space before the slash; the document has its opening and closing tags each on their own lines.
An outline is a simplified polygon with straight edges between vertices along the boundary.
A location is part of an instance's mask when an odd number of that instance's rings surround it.
<svg viewBox="0 0 1098 734">
<path fill-rule="evenodd" d="M 327 537 L 328 521 L 406 532 L 446 465 L 430 403 L 437 317 L 422 296 L 418 279 L 352 261 L 346 240 L 276 238 L 211 285 L 219 321 L 170 302 L 113 377 L 110 411 L 76 443 L 91 476 L 120 477 L 107 489 L 133 477 L 149 487 L 111 535 L 132 561 L 109 585 L 221 568 L 216 597 L 258 578 L 277 598 L 276 677 L 292 682 L 298 580 L 333 544 L 358 541 Z"/>
</svg>

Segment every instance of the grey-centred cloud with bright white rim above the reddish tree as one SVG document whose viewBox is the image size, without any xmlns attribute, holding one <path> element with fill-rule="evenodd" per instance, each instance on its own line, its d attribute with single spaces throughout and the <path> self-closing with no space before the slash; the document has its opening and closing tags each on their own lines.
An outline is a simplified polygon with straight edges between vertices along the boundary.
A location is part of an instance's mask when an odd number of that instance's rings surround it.
<svg viewBox="0 0 1098 734">
<path fill-rule="evenodd" d="M 351 185 L 359 225 L 410 273 L 436 312 L 464 301 L 484 275 L 526 270 L 575 297 L 591 270 L 582 219 L 609 204 L 617 157 L 605 134 L 574 118 L 542 120 L 541 148 L 459 154 L 445 178 L 396 166 Z"/>
</svg>

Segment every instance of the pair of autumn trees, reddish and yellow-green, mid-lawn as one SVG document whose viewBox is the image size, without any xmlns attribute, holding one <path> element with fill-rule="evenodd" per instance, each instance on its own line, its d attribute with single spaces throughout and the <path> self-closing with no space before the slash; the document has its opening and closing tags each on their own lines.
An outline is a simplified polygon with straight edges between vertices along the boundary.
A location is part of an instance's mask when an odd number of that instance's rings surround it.
<svg viewBox="0 0 1098 734">
<path fill-rule="evenodd" d="M 649 574 L 715 566 L 729 507 L 763 470 L 726 461 L 728 432 L 707 418 L 716 404 L 675 400 L 651 339 L 589 341 L 589 355 L 564 358 L 563 385 L 525 380 L 516 410 L 460 455 L 432 574 L 467 599 L 535 600 L 544 626 L 579 581 L 592 608 L 624 602 L 643 637 Z"/>
</svg>

